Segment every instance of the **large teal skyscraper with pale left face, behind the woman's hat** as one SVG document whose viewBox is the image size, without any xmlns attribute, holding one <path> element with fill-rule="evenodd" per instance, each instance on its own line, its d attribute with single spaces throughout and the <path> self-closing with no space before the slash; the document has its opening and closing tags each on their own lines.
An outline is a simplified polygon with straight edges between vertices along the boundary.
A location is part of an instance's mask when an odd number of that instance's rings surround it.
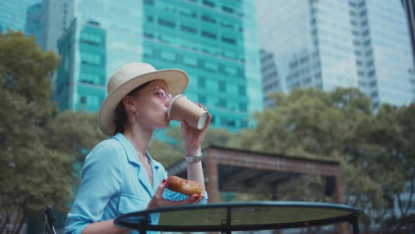
<svg viewBox="0 0 415 234">
<path fill-rule="evenodd" d="M 250 112 L 262 109 L 252 0 L 76 3 L 73 82 L 84 75 L 77 59 L 80 29 L 94 21 L 106 31 L 106 74 L 137 61 L 151 63 L 156 69 L 185 70 L 190 77 L 186 96 L 207 107 L 212 125 L 218 128 L 245 128 Z"/>
</svg>

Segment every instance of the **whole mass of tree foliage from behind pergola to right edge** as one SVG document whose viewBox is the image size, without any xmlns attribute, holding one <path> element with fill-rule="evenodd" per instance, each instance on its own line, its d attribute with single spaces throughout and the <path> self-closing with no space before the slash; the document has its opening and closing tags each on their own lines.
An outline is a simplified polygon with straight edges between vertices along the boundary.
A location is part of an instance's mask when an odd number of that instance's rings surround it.
<svg viewBox="0 0 415 234">
<path fill-rule="evenodd" d="M 257 126 L 243 131 L 238 145 L 340 161 L 346 204 L 366 212 L 362 218 L 365 226 L 385 220 L 391 214 L 390 201 L 399 198 L 405 182 L 414 181 L 414 104 L 400 109 L 385 105 L 373 114 L 368 97 L 343 88 L 333 92 L 293 90 L 272 98 L 272 109 L 255 114 Z M 281 186 L 279 197 L 330 201 L 321 196 L 322 185 L 320 178 L 300 176 Z"/>
</svg>

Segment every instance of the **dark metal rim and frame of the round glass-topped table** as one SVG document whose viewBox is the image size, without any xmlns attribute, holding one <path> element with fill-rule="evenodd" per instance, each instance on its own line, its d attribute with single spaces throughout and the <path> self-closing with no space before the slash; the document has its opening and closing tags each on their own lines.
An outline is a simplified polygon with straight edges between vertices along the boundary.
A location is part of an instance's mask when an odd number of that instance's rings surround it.
<svg viewBox="0 0 415 234">
<path fill-rule="evenodd" d="M 289 222 L 275 221 L 274 223 L 231 223 L 232 211 L 235 209 L 269 209 L 281 207 L 285 209 L 293 209 L 293 211 L 301 212 L 305 209 L 319 209 L 326 211 L 341 211 L 340 216 L 330 216 L 326 218 L 313 218 L 308 220 L 298 220 Z M 253 209 L 255 208 L 255 209 Z M 226 218 L 220 220 L 218 225 L 181 225 L 180 223 L 174 225 L 159 225 L 151 223 L 151 214 L 158 213 L 160 217 L 166 212 L 186 211 L 191 214 L 191 211 L 203 209 L 226 209 Z M 321 203 L 321 202 L 221 202 L 210 203 L 205 205 L 184 205 L 177 207 L 161 207 L 157 209 L 146 209 L 130 214 L 124 214 L 115 218 L 115 225 L 139 230 L 139 233 L 146 233 L 147 230 L 157 231 L 174 231 L 174 232 L 208 232 L 219 231 L 222 233 L 231 233 L 231 231 L 240 230 L 272 230 L 284 228 L 307 228 L 311 226 L 325 226 L 336 223 L 350 223 L 354 234 L 359 234 L 359 216 L 363 212 L 355 207 L 348 207 L 341 204 Z M 219 223 L 219 221 L 218 221 Z"/>
</svg>

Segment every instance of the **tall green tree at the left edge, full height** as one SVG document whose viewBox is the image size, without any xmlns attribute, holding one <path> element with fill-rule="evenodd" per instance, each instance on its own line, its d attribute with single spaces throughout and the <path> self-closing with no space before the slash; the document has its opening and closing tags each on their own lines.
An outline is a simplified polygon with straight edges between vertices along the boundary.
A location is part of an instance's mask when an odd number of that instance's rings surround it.
<svg viewBox="0 0 415 234">
<path fill-rule="evenodd" d="M 57 202 L 68 191 L 56 168 L 67 166 L 68 160 L 41 141 L 41 125 L 54 111 L 49 104 L 50 75 L 58 61 L 33 37 L 10 30 L 0 34 L 0 210 L 6 219 L 14 215 L 16 232 L 32 211 L 45 201 Z M 1 226 L 0 233 L 3 230 Z"/>
</svg>

